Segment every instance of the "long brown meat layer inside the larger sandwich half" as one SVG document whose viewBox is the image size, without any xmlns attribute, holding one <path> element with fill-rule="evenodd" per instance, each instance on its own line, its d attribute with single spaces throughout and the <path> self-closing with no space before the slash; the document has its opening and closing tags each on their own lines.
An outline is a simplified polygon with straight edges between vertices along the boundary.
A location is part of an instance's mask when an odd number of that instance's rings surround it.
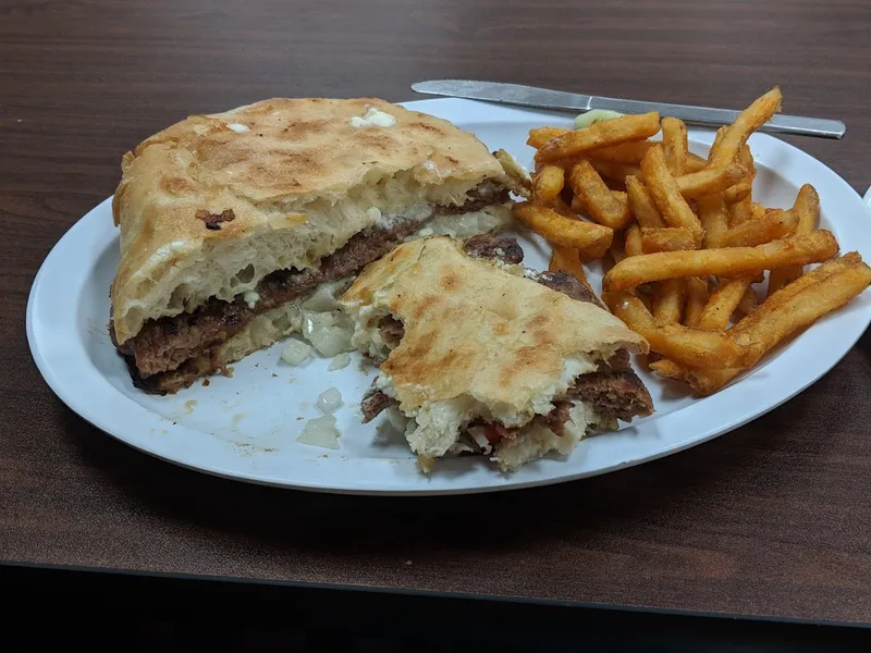
<svg viewBox="0 0 871 653">
<path fill-rule="evenodd" d="M 469 192 L 462 206 L 433 207 L 424 220 L 395 220 L 390 226 L 356 234 L 341 249 L 321 259 L 317 269 L 272 272 L 257 285 L 259 299 L 253 307 L 242 296 L 233 301 L 211 298 L 194 312 L 149 320 L 139 333 L 120 346 L 110 323 L 112 342 L 124 356 L 134 385 L 146 392 L 176 392 L 220 369 L 217 360 L 220 346 L 258 315 L 299 299 L 322 283 L 359 272 L 437 215 L 480 211 L 508 200 L 507 189 L 484 182 Z"/>
</svg>

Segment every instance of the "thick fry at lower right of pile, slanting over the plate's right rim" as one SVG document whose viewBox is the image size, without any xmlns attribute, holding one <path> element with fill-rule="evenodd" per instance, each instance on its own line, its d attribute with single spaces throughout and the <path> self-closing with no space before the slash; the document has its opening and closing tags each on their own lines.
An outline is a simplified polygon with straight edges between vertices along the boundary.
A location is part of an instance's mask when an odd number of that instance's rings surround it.
<svg viewBox="0 0 871 653">
<path fill-rule="evenodd" d="M 781 341 L 864 292 L 871 285 L 871 268 L 852 254 L 808 272 L 735 324 L 731 335 L 751 357 L 731 369 L 692 370 L 687 374 L 690 387 L 702 396 L 716 392 Z"/>
</svg>

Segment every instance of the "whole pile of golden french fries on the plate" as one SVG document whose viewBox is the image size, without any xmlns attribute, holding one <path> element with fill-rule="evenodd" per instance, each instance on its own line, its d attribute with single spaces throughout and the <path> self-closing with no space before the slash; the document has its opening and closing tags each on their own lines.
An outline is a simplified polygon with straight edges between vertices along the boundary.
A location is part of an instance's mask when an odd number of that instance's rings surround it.
<svg viewBox="0 0 871 653">
<path fill-rule="evenodd" d="M 813 186 L 787 209 L 753 201 L 747 139 L 781 99 L 778 88 L 757 99 L 707 159 L 688 151 L 682 121 L 657 112 L 529 132 L 536 172 L 516 219 L 553 245 L 551 270 L 585 284 L 582 262 L 609 257 L 605 304 L 650 343 L 650 369 L 700 396 L 871 284 L 861 257 L 836 258 L 818 229 Z"/>
</svg>

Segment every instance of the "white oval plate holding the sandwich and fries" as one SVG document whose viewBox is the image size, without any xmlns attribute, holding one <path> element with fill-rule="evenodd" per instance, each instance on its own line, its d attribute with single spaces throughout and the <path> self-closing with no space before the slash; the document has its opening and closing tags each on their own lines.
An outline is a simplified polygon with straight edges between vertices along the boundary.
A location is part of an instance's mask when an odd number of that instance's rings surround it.
<svg viewBox="0 0 871 653">
<path fill-rule="evenodd" d="M 409 109 L 452 121 L 491 149 L 503 147 L 527 167 L 527 132 L 541 125 L 571 126 L 565 114 L 525 111 L 457 99 L 408 102 Z M 690 131 L 691 149 L 704 155 L 709 131 Z M 759 174 L 755 197 L 771 207 L 792 206 L 806 182 L 822 200 L 822 226 L 844 250 L 871 256 L 871 212 L 859 195 L 829 168 L 765 135 L 750 140 Z M 542 241 L 520 241 L 530 267 L 547 267 Z M 373 370 L 359 357 L 328 371 L 328 359 L 293 368 L 280 360 L 283 345 L 236 364 L 232 379 L 216 377 L 174 396 L 133 387 L 107 333 L 109 285 L 118 262 L 118 232 L 110 200 L 79 220 L 42 263 L 27 305 L 27 338 L 39 371 L 73 410 L 140 451 L 209 473 L 250 482 L 347 493 L 451 494 L 528 488 L 571 481 L 638 465 L 721 435 L 783 404 L 829 371 L 871 321 L 866 293 L 821 320 L 746 378 L 704 399 L 685 387 L 639 371 L 657 412 L 616 433 L 582 441 L 567 458 L 548 458 L 513 475 L 479 457 L 440 463 L 429 476 L 417 468 L 401 434 L 380 421 L 363 426 L 357 403 Z M 596 285 L 601 270 L 590 271 Z M 315 402 L 338 387 L 346 406 L 336 414 L 341 446 L 329 451 L 296 442 Z M 379 429 L 380 424 L 380 429 Z"/>
</svg>

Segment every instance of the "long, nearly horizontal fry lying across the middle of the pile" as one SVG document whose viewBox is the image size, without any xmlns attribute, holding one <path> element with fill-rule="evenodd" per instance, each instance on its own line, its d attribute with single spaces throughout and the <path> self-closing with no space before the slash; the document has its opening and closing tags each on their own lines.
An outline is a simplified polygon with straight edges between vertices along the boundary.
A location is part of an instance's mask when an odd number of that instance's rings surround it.
<svg viewBox="0 0 871 653">
<path fill-rule="evenodd" d="M 837 241 L 831 232 L 820 230 L 757 247 L 723 247 L 634 256 L 609 270 L 602 282 L 605 292 L 613 292 L 678 276 L 743 276 L 784 266 L 819 263 L 835 254 Z"/>
</svg>

